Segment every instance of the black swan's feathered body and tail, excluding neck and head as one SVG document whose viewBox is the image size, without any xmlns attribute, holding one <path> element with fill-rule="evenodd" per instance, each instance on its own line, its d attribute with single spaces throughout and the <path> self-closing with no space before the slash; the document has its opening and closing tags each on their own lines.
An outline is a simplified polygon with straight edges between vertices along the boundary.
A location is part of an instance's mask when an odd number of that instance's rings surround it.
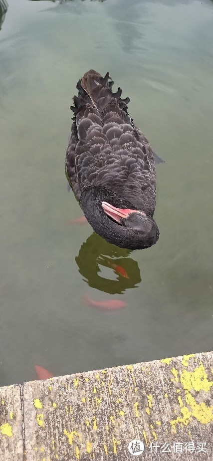
<svg viewBox="0 0 213 461">
<path fill-rule="evenodd" d="M 153 216 L 153 152 L 127 112 L 129 98 L 112 93 L 109 73 L 90 70 L 78 81 L 66 172 L 78 199 L 87 186 L 102 186 Z"/>
</svg>

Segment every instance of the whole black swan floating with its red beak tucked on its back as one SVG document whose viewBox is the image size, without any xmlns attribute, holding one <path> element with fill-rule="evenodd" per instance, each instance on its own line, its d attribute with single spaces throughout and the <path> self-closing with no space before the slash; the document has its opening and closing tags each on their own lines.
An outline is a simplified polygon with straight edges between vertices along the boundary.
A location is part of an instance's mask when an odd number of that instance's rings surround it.
<svg viewBox="0 0 213 461">
<path fill-rule="evenodd" d="M 97 234 L 121 248 L 148 248 L 159 238 L 154 153 L 113 83 L 95 70 L 78 81 L 66 177 Z"/>
</svg>

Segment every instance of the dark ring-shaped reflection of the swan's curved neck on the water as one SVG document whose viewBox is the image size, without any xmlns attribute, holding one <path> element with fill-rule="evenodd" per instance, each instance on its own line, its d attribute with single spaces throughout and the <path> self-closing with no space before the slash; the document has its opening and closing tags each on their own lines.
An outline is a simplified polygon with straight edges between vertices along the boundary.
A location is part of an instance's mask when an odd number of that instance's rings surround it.
<svg viewBox="0 0 213 461">
<path fill-rule="evenodd" d="M 141 282 L 138 263 L 127 257 L 130 253 L 131 250 L 111 245 L 94 232 L 82 243 L 75 260 L 83 280 L 89 286 L 105 293 L 121 294 L 128 288 L 136 288 Z M 119 266 L 128 278 L 119 274 L 119 268 L 116 280 L 104 278 L 98 273 L 101 271 L 99 265 L 110 268 L 112 274 L 113 270 L 116 271 L 114 267 Z"/>
</svg>

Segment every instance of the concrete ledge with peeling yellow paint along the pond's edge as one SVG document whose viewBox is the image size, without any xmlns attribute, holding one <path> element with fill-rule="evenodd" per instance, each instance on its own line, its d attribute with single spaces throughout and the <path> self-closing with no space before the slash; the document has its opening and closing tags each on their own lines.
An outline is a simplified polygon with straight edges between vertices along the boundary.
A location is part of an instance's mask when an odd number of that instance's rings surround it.
<svg viewBox="0 0 213 461">
<path fill-rule="evenodd" d="M 212 379 L 207 352 L 0 388 L 0 461 L 212 461 Z"/>
</svg>

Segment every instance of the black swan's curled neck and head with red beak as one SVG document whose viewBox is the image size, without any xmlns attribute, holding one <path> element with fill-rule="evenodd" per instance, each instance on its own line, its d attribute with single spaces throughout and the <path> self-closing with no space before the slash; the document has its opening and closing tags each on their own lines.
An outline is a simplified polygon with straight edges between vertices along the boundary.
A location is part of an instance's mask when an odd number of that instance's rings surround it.
<svg viewBox="0 0 213 461">
<path fill-rule="evenodd" d="M 154 219 L 126 199 L 102 187 L 86 188 L 81 194 L 82 210 L 94 231 L 121 248 L 148 248 L 157 242 Z"/>
</svg>

